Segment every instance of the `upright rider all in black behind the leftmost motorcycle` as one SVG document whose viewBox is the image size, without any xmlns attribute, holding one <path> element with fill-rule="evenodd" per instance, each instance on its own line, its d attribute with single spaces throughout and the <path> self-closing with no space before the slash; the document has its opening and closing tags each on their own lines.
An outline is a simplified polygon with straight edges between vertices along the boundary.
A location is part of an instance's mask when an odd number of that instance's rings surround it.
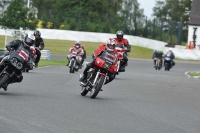
<svg viewBox="0 0 200 133">
<path fill-rule="evenodd" d="M 40 50 L 43 50 L 45 45 L 43 38 L 41 37 L 41 32 L 39 30 L 34 31 L 34 36 L 35 36 L 34 47 L 36 48 L 36 54 L 37 54 L 37 57 L 35 59 L 35 67 L 38 67 L 38 63 L 41 57 Z"/>
</svg>

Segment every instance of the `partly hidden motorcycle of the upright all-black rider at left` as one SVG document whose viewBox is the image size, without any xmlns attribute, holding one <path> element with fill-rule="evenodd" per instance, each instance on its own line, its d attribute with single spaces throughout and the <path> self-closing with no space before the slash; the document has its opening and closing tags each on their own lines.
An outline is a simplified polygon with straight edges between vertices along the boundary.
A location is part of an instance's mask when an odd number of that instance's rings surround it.
<svg viewBox="0 0 200 133">
<path fill-rule="evenodd" d="M 33 53 L 33 57 L 32 58 L 29 57 L 29 59 L 28 59 L 28 65 L 27 65 L 27 67 L 25 67 L 23 69 L 23 72 L 29 72 L 29 70 L 34 70 L 35 69 L 35 63 L 34 62 L 35 62 L 35 59 L 37 57 L 36 48 L 37 47 L 33 47 L 33 46 L 30 47 L 30 50 Z"/>
</svg>

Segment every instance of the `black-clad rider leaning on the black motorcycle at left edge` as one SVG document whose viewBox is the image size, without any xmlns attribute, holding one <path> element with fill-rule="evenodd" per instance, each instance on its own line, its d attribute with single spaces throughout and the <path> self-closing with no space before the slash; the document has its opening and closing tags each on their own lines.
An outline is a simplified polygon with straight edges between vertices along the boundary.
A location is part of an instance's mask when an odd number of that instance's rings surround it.
<svg viewBox="0 0 200 133">
<path fill-rule="evenodd" d="M 30 56 L 30 59 L 33 57 L 33 51 L 32 51 L 32 45 L 34 44 L 34 40 L 35 40 L 35 37 L 33 34 L 27 34 L 24 38 L 24 40 L 14 40 L 12 42 L 9 42 L 8 44 L 6 44 L 6 49 L 10 52 L 10 51 L 13 51 L 13 50 L 17 50 L 19 48 L 25 48 L 29 51 L 29 56 Z M 4 59 L 4 57 L 8 56 L 9 55 L 9 52 L 0 56 L 0 71 L 3 70 L 3 62 L 2 60 Z M 23 75 L 22 75 L 22 72 L 20 73 L 16 73 L 16 77 L 13 77 L 14 79 L 10 79 L 10 81 L 13 81 L 12 83 L 15 83 L 15 82 L 21 82 L 23 80 Z M 16 79 L 15 79 L 16 78 Z M 2 88 L 7 91 L 7 87 L 8 87 L 8 84 L 10 83 L 7 83 L 5 84 L 4 86 L 2 86 Z"/>
</svg>

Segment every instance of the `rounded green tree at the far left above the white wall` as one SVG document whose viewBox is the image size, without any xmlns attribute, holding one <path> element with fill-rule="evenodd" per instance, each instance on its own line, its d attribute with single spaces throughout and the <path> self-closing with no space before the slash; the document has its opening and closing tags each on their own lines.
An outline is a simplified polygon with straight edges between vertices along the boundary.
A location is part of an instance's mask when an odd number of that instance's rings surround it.
<svg viewBox="0 0 200 133">
<path fill-rule="evenodd" d="M 36 20 L 34 14 L 29 12 L 27 7 L 24 7 L 23 0 L 12 0 L 0 18 L 0 25 L 13 29 L 21 27 L 34 30 Z"/>
</svg>

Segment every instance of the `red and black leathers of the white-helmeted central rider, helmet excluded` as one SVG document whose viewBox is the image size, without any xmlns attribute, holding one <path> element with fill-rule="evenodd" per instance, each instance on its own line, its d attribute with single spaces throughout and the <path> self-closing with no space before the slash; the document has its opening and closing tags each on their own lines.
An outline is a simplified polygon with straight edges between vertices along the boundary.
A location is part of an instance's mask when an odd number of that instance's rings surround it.
<svg viewBox="0 0 200 133">
<path fill-rule="evenodd" d="M 82 77 L 80 78 L 79 81 L 84 82 L 84 81 L 86 80 L 86 78 L 87 78 L 87 71 L 88 71 L 90 68 L 94 68 L 94 61 L 95 61 L 95 59 L 96 59 L 98 56 L 100 56 L 101 53 L 102 53 L 104 50 L 107 50 L 105 44 L 99 46 L 99 47 L 95 50 L 95 52 L 94 52 L 93 55 L 92 55 L 93 61 L 90 62 L 90 63 L 88 63 L 88 64 L 86 65 L 86 68 L 85 68 L 85 70 L 83 71 L 83 75 L 82 75 Z M 113 55 L 116 57 L 115 65 L 117 65 L 117 61 L 118 61 L 117 51 L 114 50 L 114 51 L 109 51 L 109 52 L 110 52 L 111 54 L 113 54 Z M 115 74 L 112 74 L 112 73 L 108 73 L 108 76 L 109 76 L 109 80 L 106 80 L 105 84 L 111 82 L 111 81 L 115 78 Z"/>
</svg>

